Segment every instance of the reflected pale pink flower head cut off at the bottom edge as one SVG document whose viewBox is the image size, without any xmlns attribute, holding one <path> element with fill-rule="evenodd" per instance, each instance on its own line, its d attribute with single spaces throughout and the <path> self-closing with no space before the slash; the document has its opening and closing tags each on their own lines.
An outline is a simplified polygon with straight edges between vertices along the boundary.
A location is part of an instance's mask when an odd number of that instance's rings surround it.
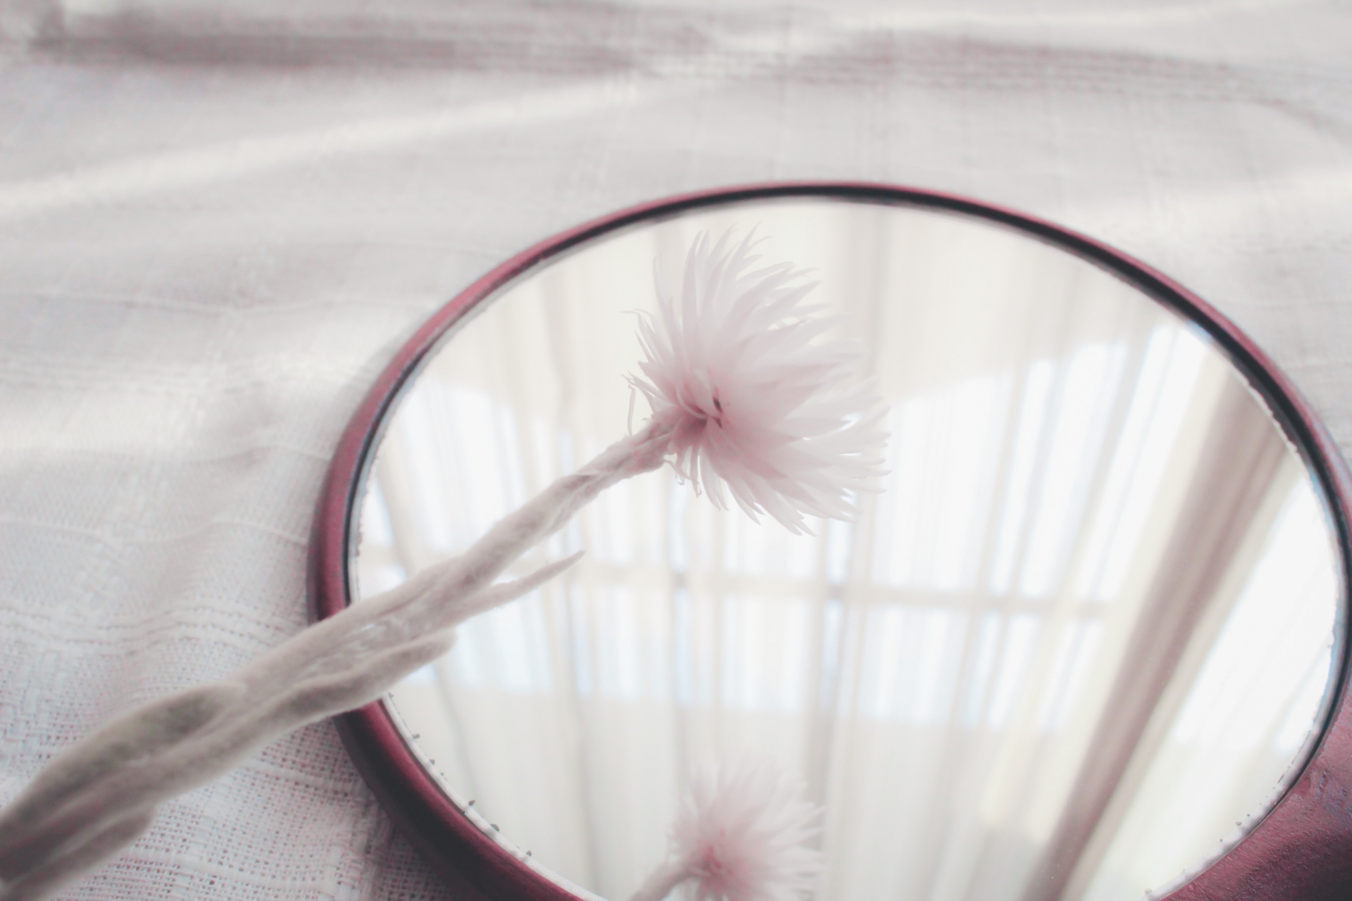
<svg viewBox="0 0 1352 901">
<path fill-rule="evenodd" d="M 821 809 L 799 793 L 765 762 L 694 778 L 671 840 L 696 901 L 794 901 L 813 890 L 822 854 L 803 842 Z"/>
</svg>

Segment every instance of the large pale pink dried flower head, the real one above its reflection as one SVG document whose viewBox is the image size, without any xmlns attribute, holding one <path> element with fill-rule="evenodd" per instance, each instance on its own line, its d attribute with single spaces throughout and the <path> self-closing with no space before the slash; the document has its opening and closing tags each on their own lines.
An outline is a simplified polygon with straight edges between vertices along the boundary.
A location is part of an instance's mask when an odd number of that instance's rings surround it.
<svg viewBox="0 0 1352 901">
<path fill-rule="evenodd" d="M 696 492 L 726 509 L 726 485 L 753 520 L 807 532 L 804 513 L 853 517 L 852 489 L 880 474 L 886 408 L 856 347 L 823 338 L 840 317 L 803 305 L 815 284 L 791 263 L 754 267 L 756 243 L 702 232 L 679 286 L 656 280 L 657 315 L 638 323 L 646 380 L 629 381 Z"/>
</svg>

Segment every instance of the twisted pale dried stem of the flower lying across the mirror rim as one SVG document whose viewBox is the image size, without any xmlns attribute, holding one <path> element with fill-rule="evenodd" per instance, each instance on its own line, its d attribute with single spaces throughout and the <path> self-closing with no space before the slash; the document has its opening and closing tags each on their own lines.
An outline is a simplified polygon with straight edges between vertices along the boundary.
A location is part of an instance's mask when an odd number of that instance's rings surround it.
<svg viewBox="0 0 1352 901">
<path fill-rule="evenodd" d="M 64 750 L 0 810 L 0 898 L 50 897 L 132 843 L 155 805 L 291 729 L 379 698 L 443 655 L 458 623 L 575 563 L 580 554 L 493 584 L 603 489 L 661 466 L 669 443 L 669 430 L 654 426 L 617 442 L 461 557 L 306 628 L 226 679 L 142 704 Z"/>
</svg>

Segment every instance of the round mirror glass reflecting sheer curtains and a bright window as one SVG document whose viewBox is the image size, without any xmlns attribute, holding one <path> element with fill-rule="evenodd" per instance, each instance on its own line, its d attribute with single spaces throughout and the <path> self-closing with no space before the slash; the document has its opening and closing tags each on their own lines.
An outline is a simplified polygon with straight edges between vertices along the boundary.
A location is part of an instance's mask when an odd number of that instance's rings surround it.
<svg viewBox="0 0 1352 901">
<path fill-rule="evenodd" d="M 818 898 L 1137 901 L 1237 840 L 1325 709 L 1324 496 L 1205 330 L 982 219 L 758 200 L 534 266 L 388 415 L 353 597 L 627 434 L 654 261 L 727 228 L 811 269 L 867 349 L 883 490 L 794 536 L 669 467 L 610 489 L 522 561 L 575 569 L 387 701 L 445 792 L 611 901 L 714 759 L 771 759 L 825 808 Z"/>
</svg>

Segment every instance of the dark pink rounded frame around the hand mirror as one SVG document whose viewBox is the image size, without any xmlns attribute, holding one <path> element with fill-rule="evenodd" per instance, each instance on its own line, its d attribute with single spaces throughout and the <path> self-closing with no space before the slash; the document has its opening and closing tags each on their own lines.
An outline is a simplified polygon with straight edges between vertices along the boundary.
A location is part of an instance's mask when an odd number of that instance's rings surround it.
<svg viewBox="0 0 1352 901">
<path fill-rule="evenodd" d="M 1333 439 L 1295 386 L 1225 316 L 1151 267 L 1019 212 L 952 195 L 852 182 L 796 182 L 715 189 L 641 204 L 549 238 L 512 257 L 438 309 L 395 354 L 343 432 L 319 507 L 310 550 L 310 602 L 316 619 L 349 602 L 353 512 L 370 450 L 400 390 L 456 324 L 499 288 L 572 247 L 623 228 L 703 207 L 745 200 L 836 199 L 957 213 L 1055 244 L 1111 272 L 1206 331 L 1265 398 L 1322 489 L 1340 551 L 1336 677 L 1326 724 L 1303 767 L 1268 813 L 1224 856 L 1167 896 L 1169 901 L 1318 901 L 1352 897 L 1352 701 L 1348 698 L 1348 585 L 1352 584 L 1352 475 Z M 383 702 L 335 719 L 353 762 L 408 840 L 456 897 L 484 901 L 576 901 L 487 836 L 441 790 L 408 748 Z"/>
</svg>

